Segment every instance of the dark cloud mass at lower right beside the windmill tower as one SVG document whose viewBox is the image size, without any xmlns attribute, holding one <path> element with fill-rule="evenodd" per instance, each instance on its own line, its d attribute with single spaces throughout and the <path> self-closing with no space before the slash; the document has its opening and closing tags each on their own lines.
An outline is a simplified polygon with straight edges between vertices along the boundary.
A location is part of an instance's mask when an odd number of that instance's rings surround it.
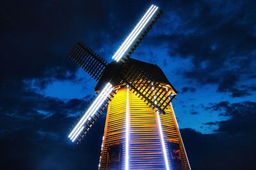
<svg viewBox="0 0 256 170">
<path fill-rule="evenodd" d="M 228 120 L 205 124 L 218 125 L 215 134 L 181 130 L 192 168 L 253 169 L 250 162 L 254 160 L 252 150 L 256 150 L 256 103 L 221 102 L 210 109 L 229 117 Z"/>
</svg>

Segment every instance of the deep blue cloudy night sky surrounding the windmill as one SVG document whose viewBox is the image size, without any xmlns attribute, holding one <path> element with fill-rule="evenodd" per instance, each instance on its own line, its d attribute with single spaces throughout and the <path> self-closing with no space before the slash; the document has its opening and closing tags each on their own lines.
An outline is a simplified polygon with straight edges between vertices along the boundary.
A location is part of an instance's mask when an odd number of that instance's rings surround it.
<svg viewBox="0 0 256 170">
<path fill-rule="evenodd" d="M 179 91 L 173 108 L 192 169 L 255 169 L 255 1 L 4 1 L 0 169 L 97 169 L 106 115 L 67 136 L 96 82 L 68 58 L 79 40 L 104 59 L 150 4 L 163 15 L 132 54 Z"/>
</svg>

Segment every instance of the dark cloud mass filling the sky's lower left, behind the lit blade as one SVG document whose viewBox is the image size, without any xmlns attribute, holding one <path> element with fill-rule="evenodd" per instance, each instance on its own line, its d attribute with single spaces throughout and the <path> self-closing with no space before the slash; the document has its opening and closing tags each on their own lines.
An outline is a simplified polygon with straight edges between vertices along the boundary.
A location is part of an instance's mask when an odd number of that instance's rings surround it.
<svg viewBox="0 0 256 170">
<path fill-rule="evenodd" d="M 90 101 L 91 96 L 86 99 Z M 2 96 L 1 169 L 81 169 L 84 160 L 91 162 L 86 164 L 88 169 L 97 169 L 104 116 L 88 133 L 83 145 L 72 146 L 67 138 L 68 128 L 88 101 L 63 101 L 31 91 L 12 98 Z"/>
</svg>

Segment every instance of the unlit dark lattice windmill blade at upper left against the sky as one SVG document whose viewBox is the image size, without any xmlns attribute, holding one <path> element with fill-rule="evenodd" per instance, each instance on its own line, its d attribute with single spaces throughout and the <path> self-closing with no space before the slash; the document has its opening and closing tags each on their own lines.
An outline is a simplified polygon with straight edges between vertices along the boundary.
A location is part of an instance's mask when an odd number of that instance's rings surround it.
<svg viewBox="0 0 256 170">
<path fill-rule="evenodd" d="M 107 66 L 106 60 L 102 59 L 97 53 L 93 52 L 88 46 L 81 41 L 76 43 L 76 46 L 68 55 L 70 59 L 74 60 L 78 66 L 81 66 L 92 78 L 96 81 L 102 75 L 102 72 Z"/>
</svg>

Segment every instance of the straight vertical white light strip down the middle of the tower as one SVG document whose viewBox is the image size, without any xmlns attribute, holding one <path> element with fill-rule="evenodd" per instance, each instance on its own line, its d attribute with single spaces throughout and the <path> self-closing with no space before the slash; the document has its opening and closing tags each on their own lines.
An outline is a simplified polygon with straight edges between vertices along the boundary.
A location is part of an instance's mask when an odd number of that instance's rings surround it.
<svg viewBox="0 0 256 170">
<path fill-rule="evenodd" d="M 125 170 L 129 170 L 130 162 L 130 106 L 129 86 L 126 89 L 126 114 L 125 114 Z"/>
</svg>

